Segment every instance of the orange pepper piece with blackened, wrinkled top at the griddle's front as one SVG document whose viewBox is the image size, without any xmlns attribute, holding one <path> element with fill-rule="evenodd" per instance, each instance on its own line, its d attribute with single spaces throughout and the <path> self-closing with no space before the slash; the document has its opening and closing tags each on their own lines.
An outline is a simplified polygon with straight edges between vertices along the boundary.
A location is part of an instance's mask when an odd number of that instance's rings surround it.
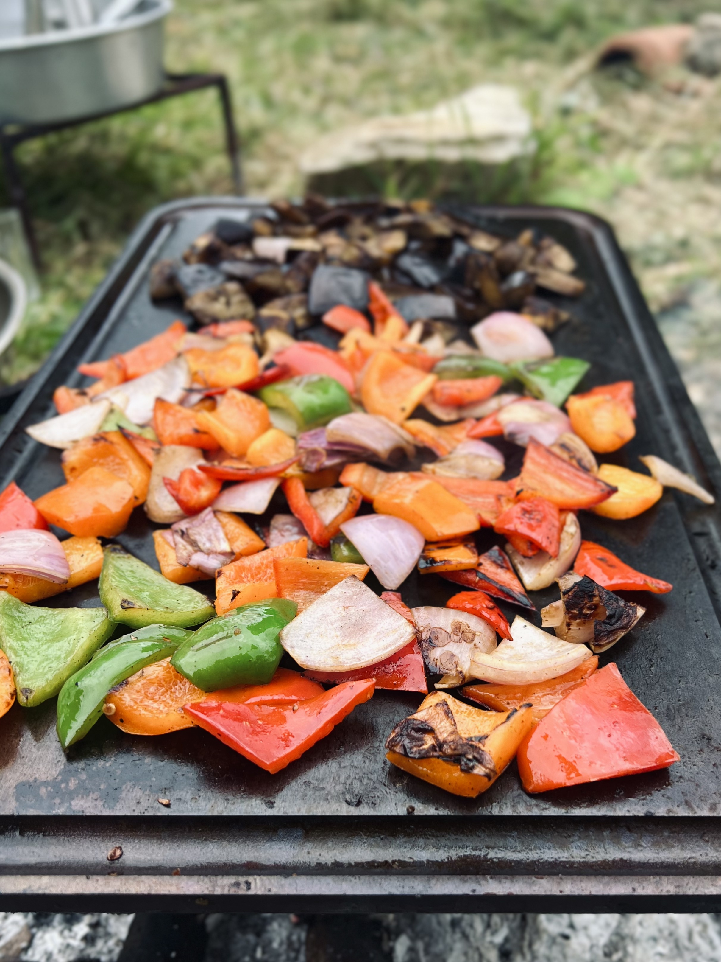
<svg viewBox="0 0 721 962">
<path fill-rule="evenodd" d="M 434 692 L 395 726 L 385 757 L 446 792 L 475 798 L 504 771 L 532 727 L 531 705 L 485 712 Z"/>
</svg>

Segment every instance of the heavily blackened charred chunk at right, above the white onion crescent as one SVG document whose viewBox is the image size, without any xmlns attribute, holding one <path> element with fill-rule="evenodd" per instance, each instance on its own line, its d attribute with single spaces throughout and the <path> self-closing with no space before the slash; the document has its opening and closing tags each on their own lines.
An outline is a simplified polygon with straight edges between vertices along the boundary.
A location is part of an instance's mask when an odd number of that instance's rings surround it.
<svg viewBox="0 0 721 962">
<path fill-rule="evenodd" d="M 587 575 L 559 578 L 560 600 L 541 610 L 544 628 L 553 627 L 566 642 L 587 645 L 594 654 L 608 651 L 634 627 L 646 609 L 597 585 Z"/>
</svg>

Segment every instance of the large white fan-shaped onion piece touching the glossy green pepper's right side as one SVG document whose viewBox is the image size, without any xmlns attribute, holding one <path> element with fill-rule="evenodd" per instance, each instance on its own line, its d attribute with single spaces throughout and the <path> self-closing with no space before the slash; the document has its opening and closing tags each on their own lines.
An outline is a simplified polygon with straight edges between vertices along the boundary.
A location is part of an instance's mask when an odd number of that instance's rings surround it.
<svg viewBox="0 0 721 962">
<path fill-rule="evenodd" d="M 301 668 L 355 671 L 409 645 L 415 628 L 355 575 L 334 585 L 281 632 Z"/>
</svg>

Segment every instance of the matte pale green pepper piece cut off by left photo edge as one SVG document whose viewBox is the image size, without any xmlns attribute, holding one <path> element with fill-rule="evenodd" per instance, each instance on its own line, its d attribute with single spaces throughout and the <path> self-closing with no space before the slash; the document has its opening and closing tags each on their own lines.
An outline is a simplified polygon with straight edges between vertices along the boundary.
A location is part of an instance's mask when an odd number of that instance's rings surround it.
<svg viewBox="0 0 721 962">
<path fill-rule="evenodd" d="M 0 648 L 26 708 L 57 695 L 115 628 L 105 608 L 35 608 L 0 592 Z"/>
</svg>

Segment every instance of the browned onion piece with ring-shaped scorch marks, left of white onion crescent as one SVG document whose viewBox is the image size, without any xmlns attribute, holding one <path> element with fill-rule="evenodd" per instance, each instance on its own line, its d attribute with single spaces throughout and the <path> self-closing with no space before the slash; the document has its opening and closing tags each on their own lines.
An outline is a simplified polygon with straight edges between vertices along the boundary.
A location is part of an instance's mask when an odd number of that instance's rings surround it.
<svg viewBox="0 0 721 962">
<path fill-rule="evenodd" d="M 477 615 L 433 607 L 413 608 L 411 613 L 423 660 L 431 671 L 443 675 L 436 688 L 456 688 L 475 677 L 474 652 L 489 654 L 496 647 L 495 631 Z"/>
</svg>

